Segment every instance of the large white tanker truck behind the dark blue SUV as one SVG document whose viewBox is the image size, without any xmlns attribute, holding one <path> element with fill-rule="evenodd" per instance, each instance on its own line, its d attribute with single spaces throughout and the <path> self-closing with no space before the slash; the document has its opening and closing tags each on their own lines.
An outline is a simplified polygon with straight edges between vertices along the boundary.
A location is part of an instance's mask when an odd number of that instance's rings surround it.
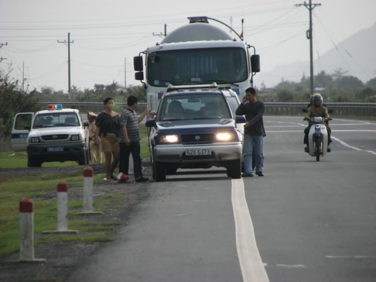
<svg viewBox="0 0 376 282">
<path fill-rule="evenodd" d="M 260 57 L 256 55 L 255 48 L 247 45 L 231 27 L 208 17 L 188 19 L 189 24 L 172 31 L 160 43 L 133 58 L 135 79 L 147 89 L 147 106 L 152 114 L 156 113 L 160 99 L 170 84 L 215 82 L 219 89 L 232 89 L 243 96 L 245 90 L 252 86 L 253 76 L 260 71 Z M 210 24 L 209 20 L 225 25 L 233 34 Z"/>
</svg>

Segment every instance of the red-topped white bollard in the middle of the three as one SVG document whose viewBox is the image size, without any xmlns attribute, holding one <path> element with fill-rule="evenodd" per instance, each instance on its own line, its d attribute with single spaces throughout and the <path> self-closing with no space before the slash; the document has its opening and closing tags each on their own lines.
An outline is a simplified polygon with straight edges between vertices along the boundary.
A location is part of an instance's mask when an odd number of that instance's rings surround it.
<svg viewBox="0 0 376 282">
<path fill-rule="evenodd" d="M 60 181 L 57 186 L 58 230 L 43 231 L 43 233 L 77 233 L 77 230 L 68 230 L 68 184 Z"/>
</svg>

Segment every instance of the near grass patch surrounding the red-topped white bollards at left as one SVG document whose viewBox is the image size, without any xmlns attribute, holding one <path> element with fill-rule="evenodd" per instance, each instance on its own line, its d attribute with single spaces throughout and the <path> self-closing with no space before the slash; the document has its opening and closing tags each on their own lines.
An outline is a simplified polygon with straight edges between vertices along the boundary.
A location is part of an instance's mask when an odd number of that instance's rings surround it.
<svg viewBox="0 0 376 282">
<path fill-rule="evenodd" d="M 94 176 L 94 182 L 102 181 L 104 175 Z M 46 197 L 46 194 L 56 193 L 57 183 L 65 181 L 68 185 L 79 187 L 83 185 L 81 171 L 66 173 L 42 174 L 38 180 L 35 176 L 7 176 L 0 182 L 0 255 L 6 255 L 19 250 L 19 201 L 30 198 L 34 205 L 34 233 L 39 234 L 46 230 L 56 230 L 57 228 L 57 203 L 56 199 Z M 55 194 L 56 195 L 56 194 Z M 101 206 L 106 210 L 106 206 L 118 202 L 126 194 L 106 194 L 103 199 L 94 200 L 94 207 Z M 77 209 L 82 209 L 82 200 L 70 200 L 69 218 L 77 219 L 73 214 Z M 75 210 L 76 211 L 72 211 Z M 98 209 L 96 209 L 98 210 Z M 92 222 L 73 220 L 69 221 L 68 228 L 79 230 L 76 235 L 46 235 L 38 236 L 36 244 L 52 241 L 109 241 L 111 237 L 98 233 L 112 230 L 116 222 Z M 83 233 L 84 232 L 84 233 Z"/>
</svg>

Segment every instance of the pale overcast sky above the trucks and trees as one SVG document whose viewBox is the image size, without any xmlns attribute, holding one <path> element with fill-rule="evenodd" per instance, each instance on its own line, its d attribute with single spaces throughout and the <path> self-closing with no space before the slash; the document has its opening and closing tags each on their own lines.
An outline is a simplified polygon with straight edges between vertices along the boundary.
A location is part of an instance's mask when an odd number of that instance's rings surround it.
<svg viewBox="0 0 376 282">
<path fill-rule="evenodd" d="M 308 0 L 307 0 L 308 2 Z M 188 23 L 208 16 L 239 34 L 244 19 L 247 44 L 256 47 L 261 71 L 295 61 L 309 61 L 309 12 L 304 0 L 0 0 L 0 69 L 22 81 L 25 89 L 52 87 L 68 91 L 68 33 L 71 85 L 140 85 L 133 57 Z M 313 10 L 314 58 L 376 22 L 374 0 L 321 0 Z M 58 42 L 60 41 L 60 42 Z M 6 45 L 7 44 L 7 45 Z M 5 58 L 1 60 L 1 58 Z M 261 74 L 262 77 L 262 74 Z M 255 77 L 255 84 L 261 81 Z"/>
</svg>

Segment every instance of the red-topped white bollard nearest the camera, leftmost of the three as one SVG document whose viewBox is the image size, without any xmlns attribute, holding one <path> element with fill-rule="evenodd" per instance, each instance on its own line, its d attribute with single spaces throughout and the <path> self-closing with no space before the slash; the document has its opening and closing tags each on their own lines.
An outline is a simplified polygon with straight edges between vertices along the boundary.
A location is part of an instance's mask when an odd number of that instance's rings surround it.
<svg viewBox="0 0 376 282">
<path fill-rule="evenodd" d="M 45 261 L 34 258 L 33 202 L 28 198 L 20 201 L 20 261 Z"/>
</svg>

